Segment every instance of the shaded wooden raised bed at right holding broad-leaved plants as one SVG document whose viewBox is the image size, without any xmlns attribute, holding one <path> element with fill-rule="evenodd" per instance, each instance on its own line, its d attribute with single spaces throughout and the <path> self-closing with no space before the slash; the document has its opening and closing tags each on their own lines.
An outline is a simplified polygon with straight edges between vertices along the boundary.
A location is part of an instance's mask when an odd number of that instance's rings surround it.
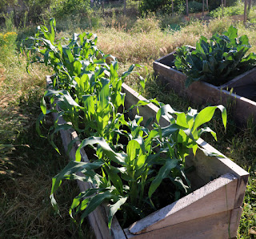
<svg viewBox="0 0 256 239">
<path fill-rule="evenodd" d="M 156 60 L 153 64 L 157 80 L 182 97 L 198 105 L 232 106 L 235 120 L 246 124 L 249 118 L 256 120 L 256 69 L 239 75 L 222 86 L 207 82 L 194 82 L 185 87 L 186 75 L 174 69 L 175 51 Z M 230 91 L 233 89 L 233 91 Z"/>
</svg>

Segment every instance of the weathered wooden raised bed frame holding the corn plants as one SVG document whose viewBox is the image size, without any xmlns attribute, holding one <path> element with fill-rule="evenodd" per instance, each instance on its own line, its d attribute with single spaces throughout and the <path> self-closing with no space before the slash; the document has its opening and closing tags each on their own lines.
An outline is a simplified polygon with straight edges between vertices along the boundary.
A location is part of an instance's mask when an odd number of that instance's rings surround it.
<svg viewBox="0 0 256 239">
<path fill-rule="evenodd" d="M 50 78 L 47 78 L 49 81 Z M 125 84 L 125 106 L 130 107 L 139 100 L 146 100 Z M 146 122 L 154 118 L 158 107 L 153 104 L 142 106 L 140 114 Z M 130 112 L 130 117 L 134 112 Z M 57 115 L 54 115 L 56 118 Z M 59 119 L 60 120 L 60 119 Z M 61 123 L 61 122 L 60 122 Z M 166 118 L 161 118 L 162 126 L 169 125 Z M 78 138 L 78 134 L 69 129 L 61 130 L 62 142 L 67 150 L 70 141 Z M 70 158 L 75 157 L 80 141 L 76 141 L 70 150 Z M 201 138 L 198 145 L 210 152 L 222 155 Z M 81 150 L 82 160 L 88 161 L 85 151 Z M 111 233 L 107 227 L 106 209 L 99 206 L 90 213 L 90 225 L 97 238 L 232 238 L 236 237 L 242 213 L 242 201 L 246 191 L 248 173 L 226 157 L 206 157 L 198 149 L 186 157 L 186 165 L 194 165 L 194 172 L 188 175 L 194 192 L 166 207 L 150 214 L 129 228 L 122 229 L 116 217 L 111 225 Z M 94 187 L 88 182 L 78 181 L 82 191 Z"/>
</svg>

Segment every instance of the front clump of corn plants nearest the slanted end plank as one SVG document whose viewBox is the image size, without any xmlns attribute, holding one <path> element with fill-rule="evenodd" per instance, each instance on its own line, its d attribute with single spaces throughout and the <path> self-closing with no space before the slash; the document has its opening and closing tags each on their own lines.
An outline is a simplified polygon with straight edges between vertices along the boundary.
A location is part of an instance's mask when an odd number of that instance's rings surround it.
<svg viewBox="0 0 256 239">
<path fill-rule="evenodd" d="M 149 201 L 154 208 L 153 194 L 166 178 L 176 186 L 176 195 L 189 193 L 190 181 L 185 173 L 185 157 L 190 149 L 196 153 L 199 147 L 196 141 L 202 133 L 210 132 L 216 139 L 216 133 L 210 128 L 201 128 L 210 121 L 216 109 L 222 111 L 222 120 L 226 128 L 226 110 L 223 106 L 209 106 L 199 113 L 197 110 L 189 109 L 185 114 L 174 111 L 169 105 L 162 105 L 156 115 L 157 121 L 159 122 L 162 115 L 166 115 L 170 119 L 170 125 L 162 128 L 158 123 L 154 123 L 154 129 L 149 130 L 140 125 L 143 118 L 135 116 L 134 120 L 127 122 L 129 130 L 122 130 L 128 138 L 128 144 L 123 146 L 124 150 L 117 152 L 103 137 L 86 138 L 76 152 L 75 161 L 70 161 L 69 165 L 54 177 L 52 204 L 56 207 L 54 193 L 64 178 L 94 182 L 97 189 L 88 189 L 74 198 L 70 215 L 73 215 L 73 211 L 84 211 L 83 220 L 98 205 L 108 202 L 110 227 L 118 209 L 126 209 L 124 213 L 129 214 L 133 208 L 139 217 L 144 217 L 143 209 L 149 205 Z M 94 173 L 92 169 L 87 169 L 88 163 L 81 162 L 80 150 L 88 145 L 95 149 L 98 160 L 94 162 L 97 162 L 96 165 L 98 169 L 102 169 L 102 173 Z M 205 153 L 214 155 L 210 152 Z M 156 165 L 160 165 L 160 169 L 153 173 Z M 85 176 L 76 176 L 75 173 L 78 172 L 84 173 Z M 126 205 L 123 205 L 125 203 Z"/>
</svg>

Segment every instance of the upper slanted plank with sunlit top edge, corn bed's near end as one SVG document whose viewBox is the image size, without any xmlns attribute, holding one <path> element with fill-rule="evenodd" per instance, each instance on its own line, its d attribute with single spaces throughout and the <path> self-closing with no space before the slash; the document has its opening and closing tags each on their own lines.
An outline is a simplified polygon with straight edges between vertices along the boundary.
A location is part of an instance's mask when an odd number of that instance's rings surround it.
<svg viewBox="0 0 256 239">
<path fill-rule="evenodd" d="M 130 225 L 140 234 L 234 209 L 237 177 L 227 173 L 202 188 Z"/>
</svg>

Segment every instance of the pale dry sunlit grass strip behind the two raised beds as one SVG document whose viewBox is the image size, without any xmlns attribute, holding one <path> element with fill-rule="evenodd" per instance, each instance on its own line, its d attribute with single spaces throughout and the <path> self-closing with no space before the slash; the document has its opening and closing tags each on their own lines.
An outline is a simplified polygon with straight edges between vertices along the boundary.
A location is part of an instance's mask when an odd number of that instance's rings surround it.
<svg viewBox="0 0 256 239">
<path fill-rule="evenodd" d="M 154 18 L 150 18 L 152 21 Z M 141 20 L 138 19 L 138 22 Z M 143 24 L 140 22 L 143 26 Z M 158 24 L 157 22 L 155 24 Z M 97 31 L 98 47 L 103 52 L 113 54 L 118 57 L 120 62 L 153 62 L 154 59 L 164 54 L 170 53 L 178 46 L 191 45 L 203 35 L 210 38 L 212 34 L 222 34 L 232 24 L 228 18 L 212 20 L 210 22 L 191 22 L 181 30 L 170 30 L 163 32 L 160 28 L 152 26 L 151 30 L 126 32 L 116 28 L 105 28 Z M 256 30 L 254 28 L 246 29 L 238 23 L 238 34 L 247 34 L 250 38 L 250 44 L 255 47 Z M 254 50 L 254 47 L 252 50 Z"/>
</svg>

